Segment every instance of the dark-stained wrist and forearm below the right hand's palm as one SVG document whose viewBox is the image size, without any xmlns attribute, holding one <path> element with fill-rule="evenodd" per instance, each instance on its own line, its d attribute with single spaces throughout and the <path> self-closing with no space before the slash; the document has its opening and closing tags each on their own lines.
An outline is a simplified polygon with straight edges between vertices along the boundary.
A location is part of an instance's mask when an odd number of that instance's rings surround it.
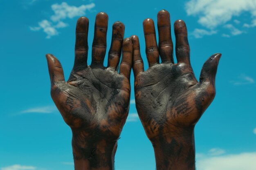
<svg viewBox="0 0 256 170">
<path fill-rule="evenodd" d="M 152 144 L 155 151 L 157 170 L 195 170 L 193 132 L 176 137 L 166 134 L 157 137 Z"/>
</svg>

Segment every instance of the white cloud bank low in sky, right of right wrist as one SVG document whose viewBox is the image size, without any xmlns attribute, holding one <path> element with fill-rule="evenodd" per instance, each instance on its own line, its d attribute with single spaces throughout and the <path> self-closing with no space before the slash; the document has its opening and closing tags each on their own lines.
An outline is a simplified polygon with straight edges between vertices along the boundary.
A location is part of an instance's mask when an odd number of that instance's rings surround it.
<svg viewBox="0 0 256 170">
<path fill-rule="evenodd" d="M 256 152 L 197 158 L 198 170 L 255 170 Z"/>
</svg>

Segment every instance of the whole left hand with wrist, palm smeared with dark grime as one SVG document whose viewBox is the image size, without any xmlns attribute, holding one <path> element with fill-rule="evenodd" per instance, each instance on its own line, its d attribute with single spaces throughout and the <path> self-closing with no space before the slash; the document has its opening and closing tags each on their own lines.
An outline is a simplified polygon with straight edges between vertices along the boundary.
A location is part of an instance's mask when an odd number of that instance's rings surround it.
<svg viewBox="0 0 256 170">
<path fill-rule="evenodd" d="M 124 24 L 115 22 L 106 54 L 108 15 L 98 13 L 92 44 L 92 63 L 87 64 L 89 20 L 76 24 L 74 67 L 67 82 L 61 63 L 47 54 L 51 79 L 51 96 L 64 121 L 72 130 L 75 170 L 113 170 L 117 140 L 128 116 L 130 105 L 130 71 L 132 41 L 124 37 Z M 119 73 L 121 48 L 123 56 Z"/>
</svg>

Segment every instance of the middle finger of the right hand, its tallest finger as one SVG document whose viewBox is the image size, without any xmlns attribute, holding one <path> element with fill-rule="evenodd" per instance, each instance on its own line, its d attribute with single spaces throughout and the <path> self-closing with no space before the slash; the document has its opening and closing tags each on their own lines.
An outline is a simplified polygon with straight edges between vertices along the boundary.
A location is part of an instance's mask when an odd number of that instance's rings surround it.
<svg viewBox="0 0 256 170">
<path fill-rule="evenodd" d="M 170 14 L 166 10 L 157 13 L 159 53 L 162 62 L 173 62 L 173 41 L 171 39 Z"/>
</svg>

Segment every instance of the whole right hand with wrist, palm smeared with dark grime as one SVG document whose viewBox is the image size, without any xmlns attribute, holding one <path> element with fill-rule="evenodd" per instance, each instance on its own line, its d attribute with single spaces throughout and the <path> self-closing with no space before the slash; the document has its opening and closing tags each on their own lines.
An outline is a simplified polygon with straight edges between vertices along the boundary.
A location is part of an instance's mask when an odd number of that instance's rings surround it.
<svg viewBox="0 0 256 170">
<path fill-rule="evenodd" d="M 143 22 L 149 68 L 144 71 L 139 40 L 132 36 L 135 102 L 146 135 L 153 144 L 157 170 L 195 170 L 194 127 L 216 94 L 221 54 L 204 63 L 198 82 L 190 64 L 186 24 L 174 23 L 177 63 L 168 11 L 157 14 L 159 44 L 152 19 Z M 159 55 L 162 63 L 159 63 Z"/>
</svg>

